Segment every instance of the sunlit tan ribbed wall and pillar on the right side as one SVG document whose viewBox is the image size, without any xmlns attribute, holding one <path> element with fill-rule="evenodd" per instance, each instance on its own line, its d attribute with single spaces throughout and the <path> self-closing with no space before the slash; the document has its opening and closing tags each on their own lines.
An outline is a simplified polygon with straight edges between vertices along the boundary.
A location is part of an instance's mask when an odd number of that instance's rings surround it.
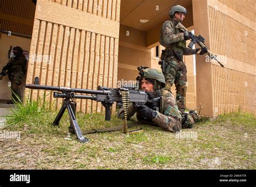
<svg viewBox="0 0 256 187">
<path fill-rule="evenodd" d="M 201 113 L 217 116 L 240 108 L 255 114 L 255 11 L 254 16 L 241 11 L 250 9 L 252 2 L 242 2 L 243 9 L 237 9 L 239 5 L 234 1 L 192 3 L 193 10 L 201 10 L 193 12 L 196 35 L 204 36 L 205 44 L 223 57 L 220 61 L 225 65 L 221 68 L 197 56 L 197 102 L 203 105 Z"/>
</svg>

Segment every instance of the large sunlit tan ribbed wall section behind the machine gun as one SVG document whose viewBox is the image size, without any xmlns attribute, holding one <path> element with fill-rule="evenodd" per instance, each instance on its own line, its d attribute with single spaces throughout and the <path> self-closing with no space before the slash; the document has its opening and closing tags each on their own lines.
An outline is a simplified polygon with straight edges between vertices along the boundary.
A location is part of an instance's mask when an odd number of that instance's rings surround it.
<svg viewBox="0 0 256 187">
<path fill-rule="evenodd" d="M 50 60 L 30 58 L 26 83 L 38 76 L 41 85 L 84 89 L 116 85 L 119 10 L 120 0 L 37 1 L 30 53 Z M 27 96 L 31 93 L 25 91 Z M 32 90 L 32 99 L 43 93 Z M 52 96 L 49 99 L 56 101 Z M 61 104 L 58 99 L 57 105 Z M 99 103 L 77 99 L 78 111 L 101 109 Z"/>
</svg>

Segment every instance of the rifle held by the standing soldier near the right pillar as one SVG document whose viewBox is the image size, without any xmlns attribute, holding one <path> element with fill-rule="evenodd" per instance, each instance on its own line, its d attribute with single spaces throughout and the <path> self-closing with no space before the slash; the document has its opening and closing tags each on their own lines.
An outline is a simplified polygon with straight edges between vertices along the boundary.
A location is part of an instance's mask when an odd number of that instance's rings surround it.
<svg viewBox="0 0 256 187">
<path fill-rule="evenodd" d="M 188 31 L 187 28 L 184 27 L 180 22 L 177 24 L 176 28 L 179 28 L 179 30 L 183 32 Z M 217 61 L 221 67 L 224 67 L 224 65 L 217 60 L 217 55 L 213 55 L 213 53 L 206 47 L 206 45 L 204 44 L 205 39 L 201 35 L 197 37 L 191 31 L 188 31 L 188 34 L 190 35 L 191 40 L 190 44 L 188 44 L 189 48 L 192 48 L 194 44 L 198 44 L 201 48 L 206 48 L 208 56 L 210 56 L 211 59 Z"/>
</svg>

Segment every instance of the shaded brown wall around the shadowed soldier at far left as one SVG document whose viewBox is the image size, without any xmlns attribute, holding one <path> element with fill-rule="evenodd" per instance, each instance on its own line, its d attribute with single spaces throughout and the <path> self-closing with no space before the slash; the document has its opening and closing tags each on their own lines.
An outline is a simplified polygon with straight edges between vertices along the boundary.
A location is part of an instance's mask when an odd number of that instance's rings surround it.
<svg viewBox="0 0 256 187">
<path fill-rule="evenodd" d="M 8 51 L 10 46 L 20 46 L 24 51 L 30 51 L 30 43 L 31 39 L 16 37 L 15 35 L 11 35 L 10 37 L 8 37 L 7 34 L 2 34 L 0 39 L 0 70 L 2 70 L 6 63 L 8 63 Z M 11 90 L 8 87 L 8 82 L 8 76 L 4 76 L 3 80 L 0 81 L 0 99 L 10 100 Z M 25 78 L 22 85 L 20 86 L 22 96 L 24 91 L 24 85 Z"/>
</svg>

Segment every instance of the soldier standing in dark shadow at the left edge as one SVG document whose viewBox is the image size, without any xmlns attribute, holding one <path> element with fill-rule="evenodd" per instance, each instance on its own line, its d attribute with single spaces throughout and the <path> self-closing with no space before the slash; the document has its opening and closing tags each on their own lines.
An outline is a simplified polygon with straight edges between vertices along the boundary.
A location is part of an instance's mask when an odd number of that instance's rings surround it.
<svg viewBox="0 0 256 187">
<path fill-rule="evenodd" d="M 12 99 L 19 102 L 19 100 L 22 100 L 19 85 L 22 84 L 23 77 L 26 73 L 26 57 L 23 55 L 23 49 L 19 46 L 14 47 L 14 55 L 15 56 L 11 57 L 6 66 L 3 67 L 0 80 L 3 79 L 3 76 L 8 75 L 11 82 L 11 90 L 13 91 Z M 18 98 L 16 96 L 18 96 Z"/>
</svg>

